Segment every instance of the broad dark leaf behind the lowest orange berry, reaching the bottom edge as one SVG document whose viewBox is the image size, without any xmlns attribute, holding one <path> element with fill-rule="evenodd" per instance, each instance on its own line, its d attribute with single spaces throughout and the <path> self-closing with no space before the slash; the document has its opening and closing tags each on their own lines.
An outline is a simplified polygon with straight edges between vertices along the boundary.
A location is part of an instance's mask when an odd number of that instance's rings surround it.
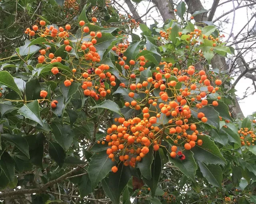
<svg viewBox="0 0 256 204">
<path fill-rule="evenodd" d="M 130 167 L 121 163 L 116 173 L 110 172 L 108 178 L 102 180 L 103 190 L 114 204 L 119 204 L 120 195 L 131 177 Z"/>
</svg>

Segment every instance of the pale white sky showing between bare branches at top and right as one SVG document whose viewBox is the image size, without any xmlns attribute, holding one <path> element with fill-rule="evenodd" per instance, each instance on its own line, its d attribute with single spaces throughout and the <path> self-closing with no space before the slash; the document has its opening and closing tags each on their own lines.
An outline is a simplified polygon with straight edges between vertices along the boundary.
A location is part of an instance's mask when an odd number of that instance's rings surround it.
<svg viewBox="0 0 256 204">
<path fill-rule="evenodd" d="M 119 1 L 119 3 L 123 2 L 122 0 Z M 213 0 L 201 0 L 202 2 L 202 5 L 204 6 L 204 8 L 206 10 L 209 10 L 212 6 L 212 3 L 213 3 Z M 220 3 L 222 2 L 226 2 L 226 0 L 220 0 Z M 240 2 L 240 1 L 239 1 Z M 220 4 L 219 3 L 219 4 Z M 235 6 L 237 6 L 237 1 L 234 1 L 234 4 Z M 153 6 L 153 3 L 152 2 L 146 2 L 146 1 L 142 1 L 140 2 L 138 5 L 136 5 L 134 3 L 134 5 L 136 6 L 136 10 L 138 12 L 138 14 L 140 16 L 142 16 L 143 14 L 145 14 L 147 8 L 150 8 L 151 6 Z M 240 6 L 243 5 L 240 4 Z M 124 3 L 122 4 L 123 8 L 126 9 L 126 11 L 129 12 L 129 8 L 127 7 L 127 5 Z M 228 2 L 220 7 L 217 8 L 216 10 L 216 13 L 215 13 L 215 16 L 213 18 L 213 20 L 215 18 L 218 18 L 219 16 L 221 16 L 223 13 L 227 12 L 227 11 L 230 11 L 233 9 L 233 4 L 232 2 Z M 123 13 L 125 14 L 125 12 L 121 12 L 120 13 Z M 230 31 L 231 31 L 231 27 L 232 27 L 232 21 L 233 21 L 233 15 L 234 13 L 230 13 L 228 15 L 226 15 L 225 17 L 221 18 L 220 20 L 224 20 L 225 18 L 229 18 L 229 22 L 228 24 L 223 24 L 224 27 L 222 27 L 220 30 L 222 31 L 222 33 L 225 34 L 226 36 L 226 39 L 228 38 L 228 35 L 230 34 Z M 240 29 L 242 29 L 242 27 L 248 22 L 248 19 L 251 18 L 252 16 L 252 12 L 250 12 L 250 10 L 247 10 L 246 7 L 244 8 L 240 8 L 238 10 L 236 10 L 235 12 L 235 20 L 234 20 L 234 28 L 233 28 L 233 33 L 234 35 L 236 36 L 236 34 L 240 31 Z M 158 14 L 158 11 L 153 8 L 150 10 L 150 12 L 148 12 L 148 14 L 146 16 L 144 16 L 142 18 L 143 21 L 146 20 L 146 24 L 147 26 L 149 27 L 151 24 L 154 24 L 154 20 L 156 20 L 157 22 L 159 22 L 159 24 L 161 25 L 163 23 L 162 19 L 159 17 L 160 15 Z M 153 20 L 154 19 L 154 20 Z M 256 19 L 256 18 L 255 18 Z M 249 28 L 246 27 L 244 29 L 244 32 L 247 31 L 247 29 L 251 29 L 251 27 L 253 26 L 255 20 L 252 20 L 252 22 L 249 24 Z M 218 26 L 218 23 L 216 22 L 214 25 Z M 141 31 L 140 30 L 137 30 L 135 32 L 136 34 L 140 34 Z M 226 40 L 225 39 L 225 40 Z M 232 37 L 229 39 L 229 42 L 232 42 L 233 39 Z M 227 44 L 228 45 L 228 44 Z M 243 46 L 242 44 L 240 44 L 239 46 Z M 256 51 L 255 51 L 256 52 Z M 236 53 L 237 54 L 237 53 Z M 251 57 L 255 55 L 256 56 L 256 53 L 248 53 L 245 57 L 245 60 L 246 61 L 251 61 Z M 251 67 L 250 67 L 251 68 Z M 234 77 L 234 80 L 236 79 L 237 77 Z M 240 79 L 240 81 L 236 84 L 236 87 L 235 89 L 237 90 L 237 92 L 235 93 L 239 98 L 242 98 L 244 96 L 244 92 L 245 90 L 250 87 L 250 90 L 251 92 L 254 90 L 254 87 L 252 85 L 252 80 L 248 79 L 248 78 L 242 78 Z M 249 92 L 250 93 L 250 92 Z M 255 100 L 256 100 L 256 94 L 253 94 L 253 95 L 250 95 L 246 98 L 244 98 L 243 100 L 239 100 L 239 104 L 240 104 L 240 108 L 244 114 L 244 116 L 246 117 L 247 115 L 250 115 L 252 114 L 253 112 L 256 112 L 256 106 L 253 105 L 255 104 Z M 250 108 L 248 108 L 250 107 Z"/>
</svg>

